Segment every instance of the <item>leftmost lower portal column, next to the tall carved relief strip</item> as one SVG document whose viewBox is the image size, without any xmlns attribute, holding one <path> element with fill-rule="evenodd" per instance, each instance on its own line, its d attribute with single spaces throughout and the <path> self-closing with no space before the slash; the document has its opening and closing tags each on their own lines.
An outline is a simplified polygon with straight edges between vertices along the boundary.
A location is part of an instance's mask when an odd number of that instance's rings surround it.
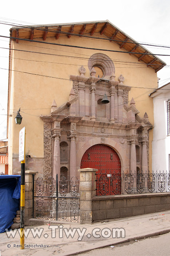
<svg viewBox="0 0 170 256">
<path fill-rule="evenodd" d="M 60 180 L 60 134 L 54 135 L 54 161 L 53 161 L 53 177 L 56 180 L 56 174 L 58 174 L 58 180 Z"/>
</svg>

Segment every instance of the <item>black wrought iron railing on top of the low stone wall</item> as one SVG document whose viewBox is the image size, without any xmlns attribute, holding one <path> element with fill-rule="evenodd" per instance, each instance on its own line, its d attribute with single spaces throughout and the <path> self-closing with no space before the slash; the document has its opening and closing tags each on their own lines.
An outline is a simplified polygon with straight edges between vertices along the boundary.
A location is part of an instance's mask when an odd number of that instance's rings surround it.
<svg viewBox="0 0 170 256">
<path fill-rule="evenodd" d="M 123 195 L 137 193 L 170 192 L 170 173 L 98 173 L 96 195 Z"/>
</svg>

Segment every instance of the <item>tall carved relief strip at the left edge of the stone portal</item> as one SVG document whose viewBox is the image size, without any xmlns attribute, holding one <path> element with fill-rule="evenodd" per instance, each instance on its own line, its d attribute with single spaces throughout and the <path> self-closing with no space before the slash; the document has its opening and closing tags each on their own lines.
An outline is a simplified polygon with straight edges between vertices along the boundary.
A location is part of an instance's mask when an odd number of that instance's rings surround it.
<svg viewBox="0 0 170 256">
<path fill-rule="evenodd" d="M 52 176 L 51 123 L 44 123 L 44 179 Z"/>
</svg>

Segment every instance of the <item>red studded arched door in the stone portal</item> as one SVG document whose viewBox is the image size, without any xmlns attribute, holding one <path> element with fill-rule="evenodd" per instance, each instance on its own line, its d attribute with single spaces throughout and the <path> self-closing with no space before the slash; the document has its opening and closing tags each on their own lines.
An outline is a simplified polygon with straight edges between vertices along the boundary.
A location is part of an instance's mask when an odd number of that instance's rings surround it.
<svg viewBox="0 0 170 256">
<path fill-rule="evenodd" d="M 97 195 L 121 193 L 121 163 L 116 151 L 104 144 L 96 144 L 84 153 L 80 168 L 98 169 Z"/>
</svg>

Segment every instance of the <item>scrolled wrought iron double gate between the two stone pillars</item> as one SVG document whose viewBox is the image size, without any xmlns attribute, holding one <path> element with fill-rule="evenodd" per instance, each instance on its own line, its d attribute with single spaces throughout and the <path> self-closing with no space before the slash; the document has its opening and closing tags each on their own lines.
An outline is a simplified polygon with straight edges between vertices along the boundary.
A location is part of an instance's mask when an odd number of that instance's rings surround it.
<svg viewBox="0 0 170 256">
<path fill-rule="evenodd" d="M 58 181 L 53 177 L 34 181 L 33 178 L 33 217 L 57 221 L 79 221 L 79 180 L 72 177 Z"/>
</svg>

